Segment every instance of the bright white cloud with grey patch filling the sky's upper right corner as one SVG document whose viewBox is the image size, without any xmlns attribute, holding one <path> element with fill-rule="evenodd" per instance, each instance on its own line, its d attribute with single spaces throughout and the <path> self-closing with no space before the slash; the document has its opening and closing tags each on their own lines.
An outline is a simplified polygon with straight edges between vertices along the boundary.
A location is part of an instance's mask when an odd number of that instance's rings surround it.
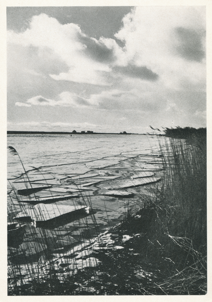
<svg viewBox="0 0 212 302">
<path fill-rule="evenodd" d="M 124 26 L 116 34 L 125 42 L 127 61 L 146 66 L 159 75 L 161 84 L 179 89 L 181 83 L 199 84 L 205 79 L 204 59 L 186 59 L 186 47 L 196 46 L 196 57 L 204 51 L 204 7 L 137 7 L 123 19 Z M 179 41 L 177 29 L 190 31 L 199 44 Z M 183 33 L 181 38 L 183 39 Z M 185 37 L 184 37 L 185 38 Z M 192 38 L 192 35 L 189 35 Z M 189 39 L 187 39 L 189 40 Z M 202 42 L 202 52 L 200 51 Z M 179 45 L 179 43 L 181 43 Z M 184 43 L 184 44 L 183 44 Z M 181 52 L 179 46 L 182 47 Z M 184 47 L 184 48 L 183 48 Z M 194 51 L 194 50 L 192 50 Z M 184 52 L 184 56 L 183 56 Z"/>
</svg>

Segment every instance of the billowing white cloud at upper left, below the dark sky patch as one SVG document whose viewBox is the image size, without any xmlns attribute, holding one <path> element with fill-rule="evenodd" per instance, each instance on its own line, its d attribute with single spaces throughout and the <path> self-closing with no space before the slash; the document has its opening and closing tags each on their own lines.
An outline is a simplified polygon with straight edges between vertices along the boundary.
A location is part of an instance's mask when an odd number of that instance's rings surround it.
<svg viewBox="0 0 212 302">
<path fill-rule="evenodd" d="M 103 86 L 110 85 L 107 73 L 111 69 L 103 59 L 101 62 L 101 57 L 105 57 L 107 51 L 109 55 L 113 55 L 114 51 L 117 53 L 118 50 L 121 51 L 112 39 L 102 38 L 99 41 L 90 39 L 81 32 L 78 25 L 73 23 L 62 25 L 45 14 L 34 16 L 30 28 L 25 32 L 9 31 L 8 41 L 28 48 L 37 47 L 40 56 L 45 54 L 43 51 L 46 48 L 52 50 L 69 67 L 68 72 L 50 74 L 54 80 Z M 51 60 L 51 57 L 49 59 Z"/>
</svg>

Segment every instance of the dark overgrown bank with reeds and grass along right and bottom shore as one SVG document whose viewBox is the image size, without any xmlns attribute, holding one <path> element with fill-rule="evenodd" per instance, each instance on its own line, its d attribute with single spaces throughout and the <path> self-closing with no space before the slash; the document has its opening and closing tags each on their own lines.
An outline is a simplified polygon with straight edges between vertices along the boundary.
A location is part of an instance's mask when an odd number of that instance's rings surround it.
<svg viewBox="0 0 212 302">
<path fill-rule="evenodd" d="M 100 262 L 58 271 L 9 287 L 9 295 L 202 295 L 206 293 L 206 129 L 165 130 L 162 189 L 110 230 L 115 247 L 102 245 Z M 173 138 L 174 137 L 174 138 Z M 186 138 L 185 141 L 175 137 Z M 50 265 L 51 267 L 51 265 Z M 18 269 L 18 268 L 16 268 Z M 60 267 L 62 273 L 69 268 Z M 16 272 L 11 273 L 15 279 Z"/>
</svg>

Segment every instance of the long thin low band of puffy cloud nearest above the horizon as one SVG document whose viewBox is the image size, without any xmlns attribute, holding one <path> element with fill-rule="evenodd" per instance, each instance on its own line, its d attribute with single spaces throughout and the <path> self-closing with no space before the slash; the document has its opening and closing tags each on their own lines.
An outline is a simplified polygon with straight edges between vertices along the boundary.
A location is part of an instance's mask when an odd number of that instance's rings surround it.
<svg viewBox="0 0 212 302">
<path fill-rule="evenodd" d="M 114 89 L 104 90 L 99 94 L 92 94 L 89 98 L 83 98 L 67 91 L 62 92 L 55 99 L 47 99 L 40 95 L 27 100 L 26 103 L 18 103 L 17 106 L 92 108 L 92 110 L 107 110 L 109 112 L 112 110 L 149 112 L 165 108 L 165 98 L 160 99 L 160 101 L 155 100 L 150 92 L 143 91 L 141 93 L 137 89 L 131 91 Z"/>
</svg>

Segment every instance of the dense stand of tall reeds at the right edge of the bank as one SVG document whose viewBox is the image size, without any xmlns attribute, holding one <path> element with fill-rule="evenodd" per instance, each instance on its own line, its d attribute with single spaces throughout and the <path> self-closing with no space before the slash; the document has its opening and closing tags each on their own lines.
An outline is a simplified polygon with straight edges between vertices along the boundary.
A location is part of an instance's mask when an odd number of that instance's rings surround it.
<svg viewBox="0 0 212 302">
<path fill-rule="evenodd" d="M 205 252 L 206 148 L 169 138 L 161 151 L 166 174 L 157 209 L 164 231 Z"/>
</svg>

